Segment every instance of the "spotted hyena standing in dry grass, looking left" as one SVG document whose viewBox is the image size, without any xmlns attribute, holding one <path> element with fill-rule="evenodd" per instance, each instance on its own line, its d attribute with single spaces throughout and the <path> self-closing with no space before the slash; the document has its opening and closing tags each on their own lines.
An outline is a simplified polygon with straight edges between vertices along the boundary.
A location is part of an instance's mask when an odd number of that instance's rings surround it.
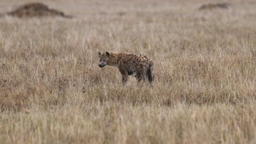
<svg viewBox="0 0 256 144">
<path fill-rule="evenodd" d="M 129 75 L 134 75 L 136 79 L 153 81 L 153 62 L 143 55 L 132 53 L 98 52 L 101 68 L 106 65 L 117 67 L 122 75 L 122 82 L 125 83 Z"/>
</svg>

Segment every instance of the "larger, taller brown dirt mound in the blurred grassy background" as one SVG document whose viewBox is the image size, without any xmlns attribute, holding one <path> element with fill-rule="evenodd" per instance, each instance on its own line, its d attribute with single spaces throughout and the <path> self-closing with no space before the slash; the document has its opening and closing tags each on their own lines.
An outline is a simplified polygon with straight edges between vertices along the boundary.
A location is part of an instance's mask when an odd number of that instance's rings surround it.
<svg viewBox="0 0 256 144">
<path fill-rule="evenodd" d="M 10 11 L 7 15 L 15 17 L 43 17 L 43 16 L 61 16 L 71 18 L 72 16 L 65 15 L 61 11 L 55 9 L 49 9 L 47 5 L 43 3 L 28 3 L 21 7 Z"/>
</svg>

